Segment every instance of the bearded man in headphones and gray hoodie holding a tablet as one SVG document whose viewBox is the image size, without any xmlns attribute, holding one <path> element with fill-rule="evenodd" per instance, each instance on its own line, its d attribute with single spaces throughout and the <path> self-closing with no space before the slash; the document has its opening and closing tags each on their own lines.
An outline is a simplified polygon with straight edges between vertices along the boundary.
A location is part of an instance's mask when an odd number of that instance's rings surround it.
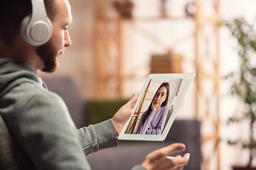
<svg viewBox="0 0 256 170">
<path fill-rule="evenodd" d="M 71 21 L 68 0 L 0 1 L 0 113 L 25 151 L 29 169 L 90 169 L 85 155 L 117 147 L 137 101 L 134 95 L 112 119 L 75 128 L 62 98 L 48 91 L 36 73 L 58 68 L 58 55 L 71 45 Z M 184 149 L 183 144 L 158 149 L 133 169 L 182 169 L 189 154 L 167 156 Z"/>
</svg>

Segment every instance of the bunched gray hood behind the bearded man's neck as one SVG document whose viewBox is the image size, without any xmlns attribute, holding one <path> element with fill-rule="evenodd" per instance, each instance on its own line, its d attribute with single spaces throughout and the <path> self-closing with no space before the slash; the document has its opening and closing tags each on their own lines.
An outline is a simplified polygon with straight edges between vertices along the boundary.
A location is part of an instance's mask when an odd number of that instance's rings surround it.
<svg viewBox="0 0 256 170">
<path fill-rule="evenodd" d="M 36 70 L 26 62 L 0 59 L 0 98 L 14 86 L 24 81 L 42 84 Z"/>
</svg>

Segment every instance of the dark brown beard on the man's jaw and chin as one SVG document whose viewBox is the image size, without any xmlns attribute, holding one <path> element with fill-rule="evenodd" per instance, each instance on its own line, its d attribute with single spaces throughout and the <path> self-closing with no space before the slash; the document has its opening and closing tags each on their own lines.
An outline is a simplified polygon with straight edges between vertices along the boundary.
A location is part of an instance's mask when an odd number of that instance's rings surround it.
<svg viewBox="0 0 256 170">
<path fill-rule="evenodd" d="M 60 63 L 58 62 L 57 56 L 63 53 L 63 51 L 58 52 L 58 50 L 55 49 L 52 40 L 39 46 L 36 53 L 41 60 L 43 60 L 43 69 L 41 69 L 43 72 L 52 73 L 58 69 Z"/>
</svg>

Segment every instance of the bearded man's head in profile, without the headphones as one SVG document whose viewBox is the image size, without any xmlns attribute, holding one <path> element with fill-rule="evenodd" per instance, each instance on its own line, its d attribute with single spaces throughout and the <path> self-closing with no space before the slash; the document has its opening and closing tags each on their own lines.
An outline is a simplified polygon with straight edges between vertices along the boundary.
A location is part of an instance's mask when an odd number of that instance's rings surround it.
<svg viewBox="0 0 256 170">
<path fill-rule="evenodd" d="M 32 0 L 33 1 L 33 0 Z M 53 33 L 46 44 L 36 49 L 36 54 L 43 62 L 41 69 L 44 72 L 53 72 L 58 67 L 56 57 L 64 47 L 70 46 L 70 37 L 67 27 L 72 21 L 68 0 L 44 0 L 48 18 L 53 24 Z M 13 47 L 20 34 L 23 18 L 32 13 L 31 0 L 0 1 L 0 42 Z M 36 65 L 36 64 L 35 64 Z M 37 63 L 37 65 L 40 65 Z"/>
</svg>

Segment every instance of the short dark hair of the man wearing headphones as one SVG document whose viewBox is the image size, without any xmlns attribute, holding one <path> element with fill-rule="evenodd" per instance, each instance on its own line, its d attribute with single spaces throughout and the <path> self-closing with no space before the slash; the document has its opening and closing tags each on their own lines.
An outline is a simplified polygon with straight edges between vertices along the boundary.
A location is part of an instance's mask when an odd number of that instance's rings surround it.
<svg viewBox="0 0 256 170">
<path fill-rule="evenodd" d="M 54 0 L 44 0 L 48 18 L 56 13 Z M 32 13 L 31 0 L 0 0 L 0 41 L 12 45 L 18 35 L 23 18 Z"/>
</svg>

